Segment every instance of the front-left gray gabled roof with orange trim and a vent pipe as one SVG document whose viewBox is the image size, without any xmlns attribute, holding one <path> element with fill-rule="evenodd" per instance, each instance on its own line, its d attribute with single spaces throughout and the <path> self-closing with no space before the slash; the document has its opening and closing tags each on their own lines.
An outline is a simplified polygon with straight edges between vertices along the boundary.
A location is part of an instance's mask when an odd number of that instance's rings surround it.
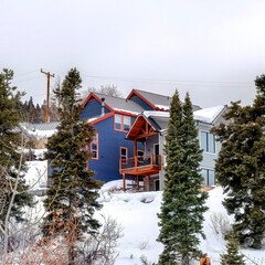
<svg viewBox="0 0 265 265">
<path fill-rule="evenodd" d="M 94 96 L 98 102 L 102 103 L 102 98 L 105 98 L 105 106 L 109 108 L 110 112 L 129 112 L 131 114 L 138 115 L 139 113 L 144 112 L 145 109 L 139 106 L 137 103 L 128 100 L 127 98 L 123 97 L 115 97 L 108 96 L 100 93 L 91 93 L 86 100 L 83 104 L 83 107 L 87 104 L 91 97 Z"/>
</svg>

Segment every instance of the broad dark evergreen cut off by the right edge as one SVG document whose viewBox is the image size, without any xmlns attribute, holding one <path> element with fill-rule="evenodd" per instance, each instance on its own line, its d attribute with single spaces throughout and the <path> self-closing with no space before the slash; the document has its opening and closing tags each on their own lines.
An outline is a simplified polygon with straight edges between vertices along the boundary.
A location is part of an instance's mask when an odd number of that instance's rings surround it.
<svg viewBox="0 0 265 265">
<path fill-rule="evenodd" d="M 222 148 L 215 165 L 226 199 L 223 204 L 234 214 L 233 230 L 241 244 L 262 247 L 265 232 L 265 75 L 256 78 L 253 106 L 232 103 L 224 115 L 230 123 L 213 128 Z"/>
</svg>

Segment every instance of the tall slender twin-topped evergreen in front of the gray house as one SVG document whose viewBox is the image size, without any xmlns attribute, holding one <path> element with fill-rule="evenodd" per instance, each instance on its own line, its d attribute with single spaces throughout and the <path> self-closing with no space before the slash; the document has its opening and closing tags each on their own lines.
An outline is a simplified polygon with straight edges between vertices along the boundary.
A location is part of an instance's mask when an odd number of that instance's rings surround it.
<svg viewBox="0 0 265 265">
<path fill-rule="evenodd" d="M 172 97 L 166 142 L 166 181 L 158 214 L 161 227 L 158 241 L 165 250 L 159 264 L 189 265 L 201 255 L 198 235 L 204 237 L 202 223 L 208 194 L 200 191 L 202 150 L 188 94 L 183 107 L 178 92 Z"/>
</svg>

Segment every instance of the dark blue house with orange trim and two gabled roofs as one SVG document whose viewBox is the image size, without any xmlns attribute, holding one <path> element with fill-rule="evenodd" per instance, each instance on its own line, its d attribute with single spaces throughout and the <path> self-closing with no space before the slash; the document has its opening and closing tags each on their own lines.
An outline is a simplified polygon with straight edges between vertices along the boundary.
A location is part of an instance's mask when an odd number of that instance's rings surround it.
<svg viewBox="0 0 265 265">
<path fill-rule="evenodd" d="M 96 179 L 121 179 L 120 159 L 144 156 L 142 141 L 126 139 L 137 116 L 145 110 L 168 110 L 171 97 L 132 89 L 127 98 L 91 93 L 83 103 L 81 118 L 95 126 L 96 136 L 87 149 L 93 152 L 88 169 L 96 171 Z M 200 107 L 194 106 L 194 109 Z"/>
</svg>

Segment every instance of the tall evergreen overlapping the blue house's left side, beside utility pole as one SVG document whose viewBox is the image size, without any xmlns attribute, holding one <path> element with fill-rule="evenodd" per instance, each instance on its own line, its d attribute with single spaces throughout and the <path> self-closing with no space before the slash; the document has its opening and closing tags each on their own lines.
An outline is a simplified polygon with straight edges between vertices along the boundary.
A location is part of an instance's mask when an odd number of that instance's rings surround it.
<svg viewBox="0 0 265 265">
<path fill-rule="evenodd" d="M 94 171 L 85 170 L 91 153 L 85 149 L 95 135 L 94 127 L 80 119 L 81 106 L 77 89 L 81 88 L 81 76 L 72 68 L 65 76 L 61 88 L 55 95 L 61 102 L 61 123 L 57 134 L 49 140 L 46 159 L 53 169 L 50 176 L 52 184 L 46 192 L 44 202 L 47 211 L 43 232 L 63 233 L 68 241 L 68 264 L 75 264 L 78 242 L 83 233 L 94 233 L 99 223 L 93 218 L 99 209 L 96 201 L 102 183 L 93 178 Z M 52 223 L 60 215 L 60 222 Z M 65 231 L 65 227 L 67 230 Z"/>
</svg>

